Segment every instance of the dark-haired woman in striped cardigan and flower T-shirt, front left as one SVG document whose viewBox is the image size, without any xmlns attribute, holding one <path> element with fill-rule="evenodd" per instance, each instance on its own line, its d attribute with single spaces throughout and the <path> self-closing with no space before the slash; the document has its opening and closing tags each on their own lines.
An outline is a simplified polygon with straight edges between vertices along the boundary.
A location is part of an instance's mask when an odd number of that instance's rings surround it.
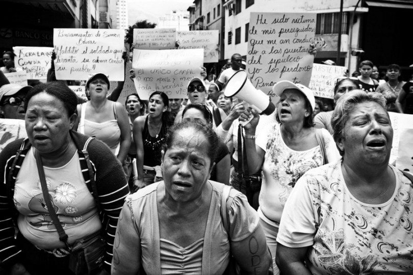
<svg viewBox="0 0 413 275">
<path fill-rule="evenodd" d="M 28 139 L 0 153 L 0 182 L 5 183 L 0 184 L 0 260 L 11 274 L 74 274 L 71 248 L 99 232 L 105 239 L 100 263 L 110 270 L 115 227 L 129 188 L 109 148 L 71 130 L 76 104 L 65 85 L 36 86 L 25 98 Z M 58 234 L 50 211 L 66 238 Z M 70 265 L 85 268 L 81 260 Z"/>
</svg>

